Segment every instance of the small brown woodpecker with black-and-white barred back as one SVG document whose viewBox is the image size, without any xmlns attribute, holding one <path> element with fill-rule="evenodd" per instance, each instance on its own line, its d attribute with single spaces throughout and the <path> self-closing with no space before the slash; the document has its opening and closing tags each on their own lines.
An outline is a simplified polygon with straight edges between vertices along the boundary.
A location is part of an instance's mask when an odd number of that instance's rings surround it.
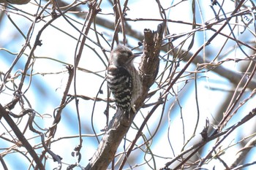
<svg viewBox="0 0 256 170">
<path fill-rule="evenodd" d="M 136 113 L 134 104 L 142 92 L 142 82 L 133 65 L 133 59 L 137 56 L 122 45 L 110 53 L 108 87 L 113 93 L 116 107 L 125 115 L 129 114 L 131 108 Z"/>
</svg>

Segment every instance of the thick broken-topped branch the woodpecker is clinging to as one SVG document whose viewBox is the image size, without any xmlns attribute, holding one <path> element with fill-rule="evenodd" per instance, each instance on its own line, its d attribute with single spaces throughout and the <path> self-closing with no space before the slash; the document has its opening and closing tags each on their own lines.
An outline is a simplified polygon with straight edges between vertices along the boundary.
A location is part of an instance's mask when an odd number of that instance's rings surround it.
<svg viewBox="0 0 256 170">
<path fill-rule="evenodd" d="M 142 61 L 140 63 L 140 76 L 143 80 L 143 95 L 135 102 L 136 110 L 143 106 L 143 101 L 146 99 L 148 89 L 154 83 L 157 75 L 159 68 L 158 56 L 164 28 L 165 23 L 162 23 L 159 24 L 156 32 L 152 32 L 149 29 L 144 30 L 144 50 Z M 120 110 L 117 110 L 108 125 L 108 130 L 102 137 L 102 141 L 99 143 L 97 151 L 94 152 L 89 164 L 86 166 L 86 170 L 105 170 L 108 168 L 108 165 L 115 157 L 116 150 L 121 143 L 121 140 L 127 134 L 127 131 L 135 118 L 132 111 L 129 115 L 131 116 L 126 117 Z"/>
</svg>

